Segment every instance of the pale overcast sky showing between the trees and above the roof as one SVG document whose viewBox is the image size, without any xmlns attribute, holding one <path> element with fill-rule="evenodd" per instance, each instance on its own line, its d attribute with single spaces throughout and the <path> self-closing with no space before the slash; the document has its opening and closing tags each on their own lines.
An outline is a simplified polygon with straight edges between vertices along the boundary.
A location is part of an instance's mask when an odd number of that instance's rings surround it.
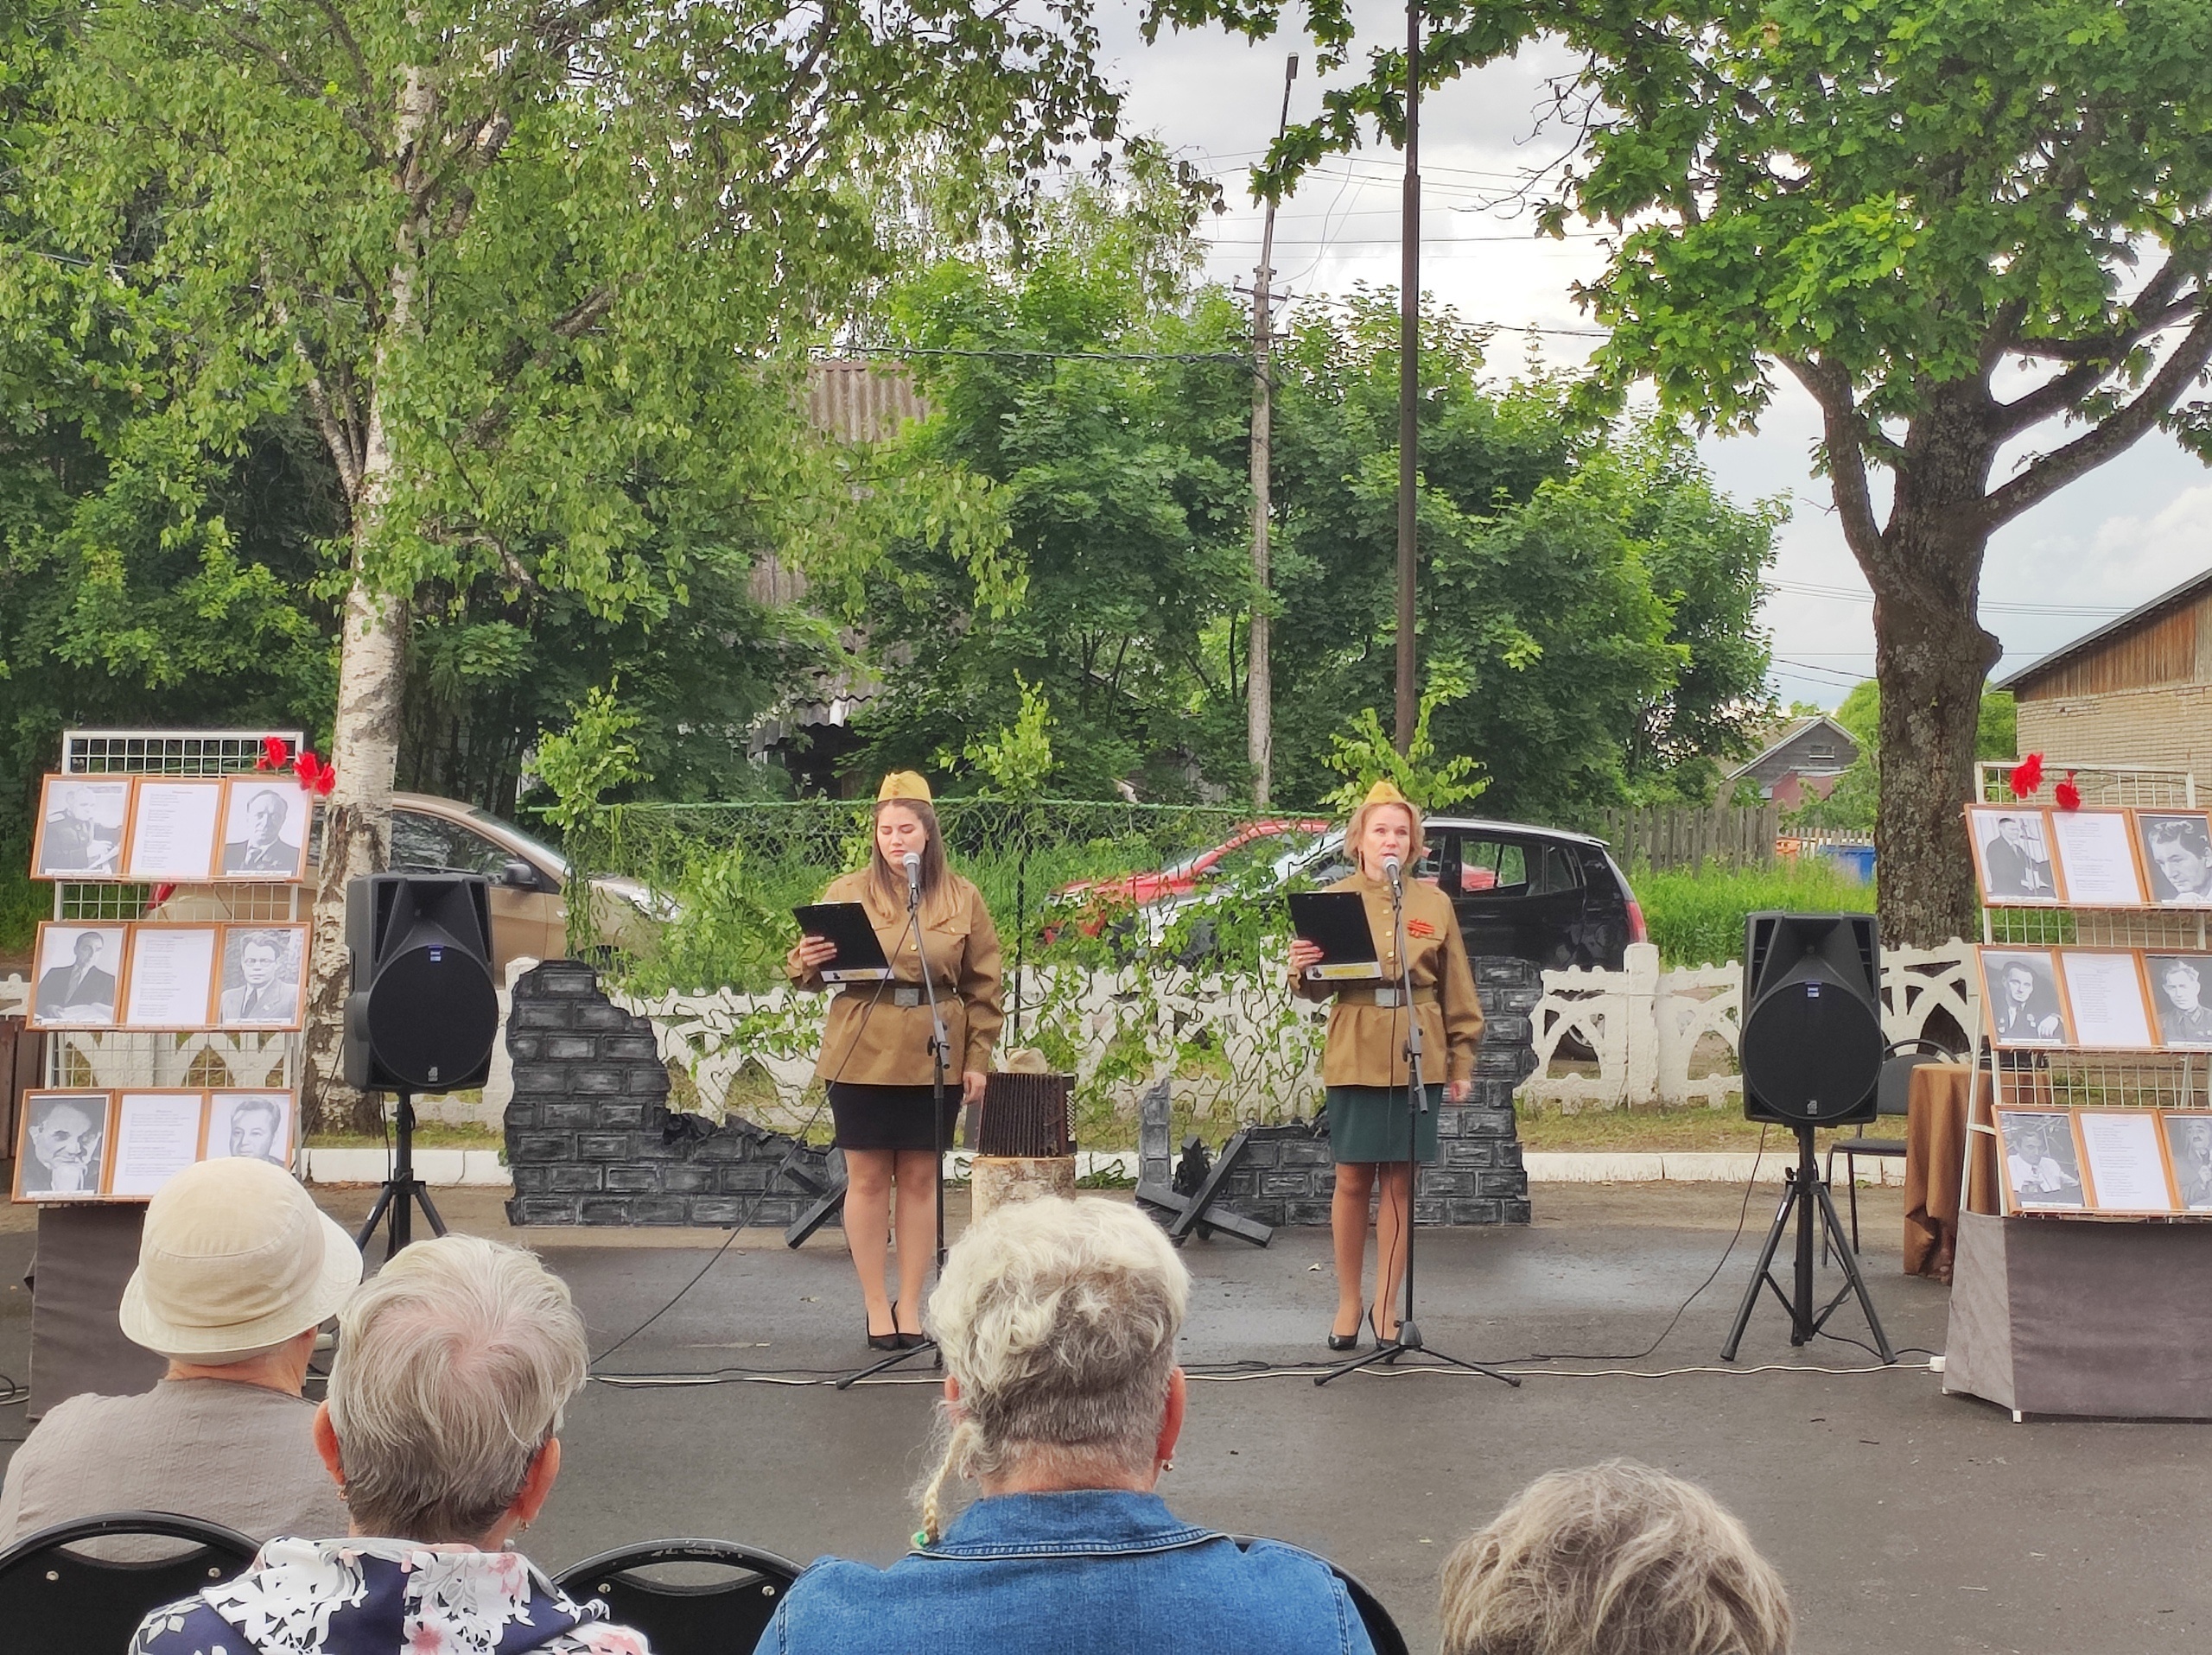
<svg viewBox="0 0 2212 1655">
<path fill-rule="evenodd" d="M 1400 11 L 1363 11 L 1391 31 L 1402 27 Z M 1252 46 L 1223 33 L 1164 35 L 1146 46 L 1130 0 L 1108 0 L 1099 24 L 1106 55 L 1130 91 L 1130 126 L 1157 133 L 1223 184 L 1230 212 L 1206 228 L 1208 274 L 1250 283 L 1261 219 L 1245 168 L 1274 137 L 1290 51 L 1301 53 L 1292 119 L 1318 111 L 1323 82 L 1314 77 L 1312 46 Z M 1506 372 L 1522 361 L 1517 334 L 1528 325 L 1555 330 L 1544 334 L 1544 350 L 1559 363 L 1579 363 L 1593 343 L 1568 288 L 1595 274 L 1595 235 L 1537 241 L 1524 215 L 1489 206 L 1531 168 L 1557 162 L 1564 139 L 1537 131 L 1537 113 L 1544 75 L 1559 66 L 1559 58 L 1524 53 L 1422 104 L 1422 288 L 1469 321 L 1513 334 L 1493 345 Z M 1323 164 L 1276 215 L 1276 285 L 1294 294 L 1340 294 L 1360 281 L 1394 288 L 1398 197 L 1396 150 Z M 1759 434 L 1708 440 L 1705 460 L 1739 500 L 1792 498 L 1772 573 L 1776 591 L 1765 606 L 1774 688 L 1785 701 L 1834 706 L 1874 673 L 1874 600 L 1843 544 L 1827 480 L 1812 473 L 1816 436 L 1812 400 L 1783 376 Z M 2035 438 L 2053 447 L 2055 429 Z M 1997 675 L 2203 571 L 2212 562 L 2208 533 L 2212 471 L 2166 436 L 2146 438 L 2002 529 L 1982 575 L 1982 620 L 2004 642 Z"/>
</svg>

